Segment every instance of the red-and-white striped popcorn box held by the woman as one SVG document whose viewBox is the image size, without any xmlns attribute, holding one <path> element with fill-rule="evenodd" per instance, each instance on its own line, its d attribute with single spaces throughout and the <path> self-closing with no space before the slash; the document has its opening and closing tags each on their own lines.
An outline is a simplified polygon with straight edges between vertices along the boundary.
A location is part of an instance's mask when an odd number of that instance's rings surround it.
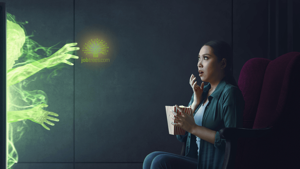
<svg viewBox="0 0 300 169">
<path fill-rule="evenodd" d="M 191 107 L 181 107 L 181 108 L 188 115 L 190 115 L 190 113 L 192 112 L 192 108 Z M 174 126 L 174 125 L 171 124 L 171 121 L 173 123 L 178 123 L 178 122 L 176 122 L 175 120 L 173 120 L 170 117 L 170 115 L 173 116 L 173 117 L 175 117 L 170 109 L 173 110 L 173 111 L 175 111 L 176 113 L 179 113 L 180 115 L 182 115 L 180 113 L 180 111 L 175 106 L 166 106 L 166 113 L 167 113 L 169 134 L 171 134 L 171 135 L 184 135 L 185 134 L 185 130 L 184 129 L 182 129 L 180 127 L 177 127 L 177 126 Z M 178 117 L 176 117 L 176 118 L 178 118 Z"/>
</svg>

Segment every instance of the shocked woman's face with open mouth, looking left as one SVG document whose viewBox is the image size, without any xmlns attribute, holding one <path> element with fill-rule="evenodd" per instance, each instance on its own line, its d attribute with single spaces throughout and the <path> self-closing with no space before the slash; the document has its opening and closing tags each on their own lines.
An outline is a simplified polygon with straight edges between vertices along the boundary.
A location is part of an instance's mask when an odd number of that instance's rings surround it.
<svg viewBox="0 0 300 169">
<path fill-rule="evenodd" d="M 201 48 L 198 55 L 198 71 L 203 82 L 214 82 L 220 76 L 221 64 L 210 46 L 205 45 Z"/>
</svg>

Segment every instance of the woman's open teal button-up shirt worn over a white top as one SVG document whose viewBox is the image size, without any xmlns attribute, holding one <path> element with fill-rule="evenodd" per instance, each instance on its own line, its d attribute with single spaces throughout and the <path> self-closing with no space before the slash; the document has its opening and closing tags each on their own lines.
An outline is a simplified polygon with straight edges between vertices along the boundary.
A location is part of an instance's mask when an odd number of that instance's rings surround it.
<svg viewBox="0 0 300 169">
<path fill-rule="evenodd" d="M 224 77 L 225 78 L 225 77 Z M 225 127 L 243 127 L 244 97 L 238 87 L 231 85 L 222 79 L 214 92 L 208 96 L 208 104 L 205 107 L 202 126 L 217 131 L 214 144 L 200 140 L 200 150 L 196 144 L 196 136 L 185 132 L 185 135 L 177 135 L 177 139 L 186 142 L 185 156 L 198 158 L 198 169 L 221 169 L 225 154 L 226 140 L 220 138 L 219 131 Z M 204 86 L 202 96 L 207 96 L 211 88 L 210 83 Z M 194 101 L 194 94 L 188 104 Z M 203 101 L 201 104 L 203 104 Z M 200 108 L 200 105 L 194 114 Z"/>
</svg>

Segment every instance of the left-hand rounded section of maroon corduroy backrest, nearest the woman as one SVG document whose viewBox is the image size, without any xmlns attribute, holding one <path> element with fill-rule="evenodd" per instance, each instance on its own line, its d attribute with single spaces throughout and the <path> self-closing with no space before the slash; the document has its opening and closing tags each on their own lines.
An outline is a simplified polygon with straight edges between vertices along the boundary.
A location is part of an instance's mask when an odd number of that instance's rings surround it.
<svg viewBox="0 0 300 169">
<path fill-rule="evenodd" d="M 238 87 L 245 100 L 243 127 L 246 129 L 253 127 L 265 70 L 270 61 L 265 58 L 250 59 L 242 67 L 238 78 Z"/>
</svg>

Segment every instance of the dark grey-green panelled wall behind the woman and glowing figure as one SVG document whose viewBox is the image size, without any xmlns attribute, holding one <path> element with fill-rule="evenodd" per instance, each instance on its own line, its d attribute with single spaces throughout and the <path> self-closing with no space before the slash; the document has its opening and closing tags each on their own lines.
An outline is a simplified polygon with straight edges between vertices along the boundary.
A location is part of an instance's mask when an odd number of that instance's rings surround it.
<svg viewBox="0 0 300 169">
<path fill-rule="evenodd" d="M 275 58 L 269 54 L 275 49 L 268 49 L 268 0 L 4 2 L 8 13 L 29 22 L 27 33 L 35 31 L 32 39 L 42 46 L 79 42 L 77 35 L 92 24 L 109 28 L 118 44 L 105 69 L 77 61 L 50 81 L 41 76 L 51 70 L 28 79 L 37 77 L 25 89 L 43 90 L 49 105 L 44 109 L 59 114 L 59 122 L 46 124 L 49 131 L 30 120 L 11 123 L 16 169 L 142 168 L 153 151 L 180 154 L 182 143 L 168 134 L 164 106 L 187 106 L 191 74 L 201 84 L 200 47 L 212 39 L 232 45 L 236 82 L 249 59 Z"/>
</svg>

